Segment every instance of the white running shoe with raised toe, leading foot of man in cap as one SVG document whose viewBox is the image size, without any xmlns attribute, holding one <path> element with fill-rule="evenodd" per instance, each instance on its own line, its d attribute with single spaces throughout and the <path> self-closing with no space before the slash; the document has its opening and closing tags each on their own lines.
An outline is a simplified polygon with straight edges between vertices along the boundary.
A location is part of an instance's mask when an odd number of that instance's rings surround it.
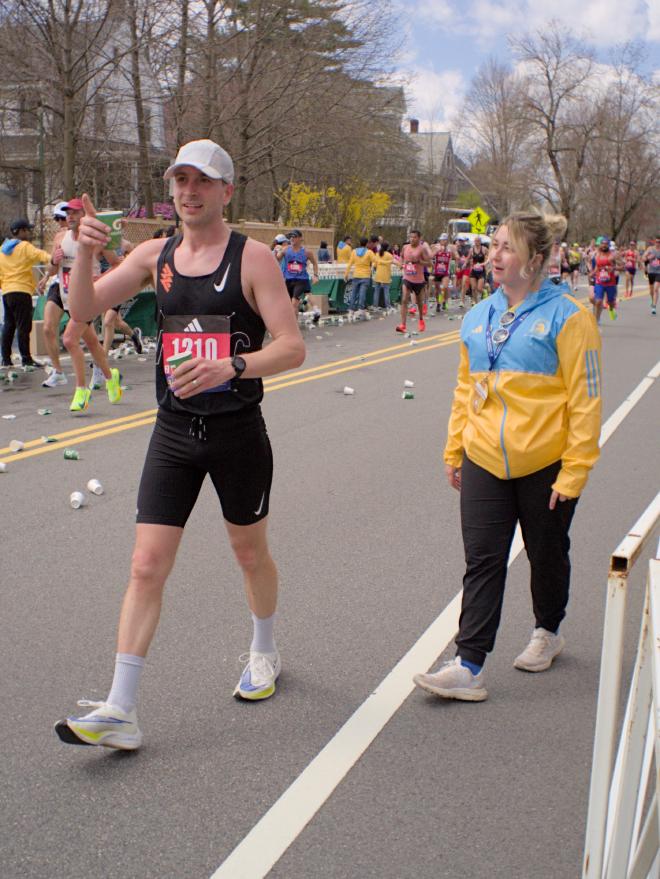
<svg viewBox="0 0 660 879">
<path fill-rule="evenodd" d="M 126 712 L 117 705 L 89 699 L 81 699 L 78 705 L 93 710 L 83 717 L 67 717 L 55 724 L 55 732 L 65 744 L 100 745 L 123 751 L 134 751 L 142 744 L 135 709 Z"/>
</svg>

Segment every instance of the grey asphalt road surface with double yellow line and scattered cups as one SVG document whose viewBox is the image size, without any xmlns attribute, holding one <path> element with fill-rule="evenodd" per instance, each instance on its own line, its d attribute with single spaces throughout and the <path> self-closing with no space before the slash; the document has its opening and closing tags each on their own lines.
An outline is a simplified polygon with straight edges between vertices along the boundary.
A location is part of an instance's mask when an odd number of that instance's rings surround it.
<svg viewBox="0 0 660 879">
<path fill-rule="evenodd" d="M 639 297 L 616 323 L 605 320 L 607 418 L 658 361 L 660 317 Z M 265 396 L 281 574 L 276 696 L 257 705 L 231 697 L 249 615 L 207 484 L 143 676 L 145 744 L 134 754 L 64 746 L 52 724 L 110 684 L 153 360 L 122 361 L 122 403 L 96 393 L 84 417 L 67 411 L 70 387 L 42 390 L 38 375 L 0 392 L 0 414 L 16 415 L 0 420 L 0 447 L 74 431 L 68 444 L 81 455 L 65 461 L 61 444 L 40 442 L 0 452 L 9 463 L 0 474 L 4 879 L 211 876 L 457 593 L 458 497 L 441 451 L 458 356 L 449 334 L 460 323 L 433 317 L 411 346 L 395 337 L 395 322 L 306 332 L 303 371 L 271 381 Z M 405 379 L 414 400 L 401 398 Z M 37 415 L 45 405 L 53 414 Z M 567 648 L 553 669 L 512 667 L 533 626 L 523 554 L 486 666 L 490 699 L 442 703 L 415 691 L 269 875 L 578 875 L 608 559 L 658 490 L 659 411 L 655 382 L 603 449 L 580 501 Z M 92 477 L 106 493 L 73 511 L 70 492 Z M 640 563 L 628 664 L 644 576 Z"/>
</svg>

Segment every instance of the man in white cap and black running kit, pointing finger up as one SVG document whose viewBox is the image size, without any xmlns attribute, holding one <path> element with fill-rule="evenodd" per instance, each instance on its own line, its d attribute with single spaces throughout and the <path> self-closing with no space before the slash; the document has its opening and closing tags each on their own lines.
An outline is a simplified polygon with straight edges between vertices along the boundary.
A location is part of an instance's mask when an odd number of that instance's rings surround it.
<svg viewBox="0 0 660 879">
<path fill-rule="evenodd" d="M 300 366 L 305 346 L 270 250 L 223 220 L 234 190 L 229 155 L 210 140 L 192 141 L 181 147 L 165 177 L 173 180 L 183 233 L 145 241 L 94 284 L 94 250 L 108 233 L 85 196 L 71 279 L 71 310 L 78 320 L 133 295 L 146 274 L 154 278 L 159 309 L 159 409 L 138 492 L 115 676 L 107 699 L 92 703 L 91 713 L 56 725 L 60 738 L 72 744 L 130 750 L 142 741 L 135 710 L 139 677 L 165 581 L 207 473 L 252 611 L 250 657 L 234 695 L 272 696 L 281 669 L 273 638 L 277 569 L 266 539 L 272 454 L 259 404 L 262 377 Z M 266 330 L 272 341 L 262 348 Z M 186 353 L 192 358 L 173 370 L 168 358 Z"/>
</svg>

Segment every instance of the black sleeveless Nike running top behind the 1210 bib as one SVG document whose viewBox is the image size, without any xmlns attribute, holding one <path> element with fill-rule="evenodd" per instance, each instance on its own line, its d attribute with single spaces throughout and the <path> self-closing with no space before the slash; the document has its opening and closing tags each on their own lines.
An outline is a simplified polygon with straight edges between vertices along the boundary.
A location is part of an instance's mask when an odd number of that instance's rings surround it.
<svg viewBox="0 0 660 879">
<path fill-rule="evenodd" d="M 170 354 L 221 359 L 259 351 L 266 331 L 263 320 L 243 295 L 245 235 L 232 231 L 215 272 L 194 277 L 180 275 L 174 265 L 174 252 L 181 241 L 181 235 L 170 238 L 158 257 L 158 405 L 187 415 L 222 415 L 253 408 L 263 398 L 260 378 L 233 380 L 187 400 L 179 400 L 169 388 L 166 361 Z"/>
</svg>

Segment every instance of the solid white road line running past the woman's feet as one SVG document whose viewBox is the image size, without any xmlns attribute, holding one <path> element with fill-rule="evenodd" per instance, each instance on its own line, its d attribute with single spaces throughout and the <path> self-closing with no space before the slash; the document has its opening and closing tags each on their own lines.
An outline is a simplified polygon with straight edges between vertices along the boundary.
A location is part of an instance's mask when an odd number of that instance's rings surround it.
<svg viewBox="0 0 660 879">
<path fill-rule="evenodd" d="M 660 376 L 660 361 L 603 425 L 605 445 Z M 516 531 L 509 565 L 523 549 Z M 412 676 L 430 668 L 458 630 L 459 592 L 373 693 L 236 846 L 211 879 L 262 879 L 302 833 L 341 780 L 414 690 Z"/>
</svg>

